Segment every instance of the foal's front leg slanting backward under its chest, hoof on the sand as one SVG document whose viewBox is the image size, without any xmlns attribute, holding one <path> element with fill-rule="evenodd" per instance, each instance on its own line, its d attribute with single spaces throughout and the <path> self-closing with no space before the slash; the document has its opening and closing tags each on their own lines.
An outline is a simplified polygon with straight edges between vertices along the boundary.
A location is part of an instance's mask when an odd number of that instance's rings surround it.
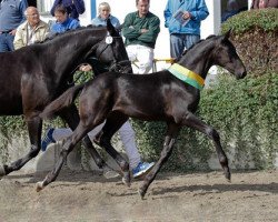
<svg viewBox="0 0 278 222">
<path fill-rule="evenodd" d="M 139 188 L 138 193 L 140 194 L 141 199 L 143 199 L 150 183 L 155 180 L 157 173 L 161 169 L 162 164 L 168 160 L 171 154 L 173 144 L 176 142 L 176 138 L 179 133 L 180 127 L 175 123 L 168 124 L 167 135 L 163 142 L 163 149 L 160 154 L 158 162 L 151 169 L 151 171 L 145 176 L 142 185 Z"/>
</svg>

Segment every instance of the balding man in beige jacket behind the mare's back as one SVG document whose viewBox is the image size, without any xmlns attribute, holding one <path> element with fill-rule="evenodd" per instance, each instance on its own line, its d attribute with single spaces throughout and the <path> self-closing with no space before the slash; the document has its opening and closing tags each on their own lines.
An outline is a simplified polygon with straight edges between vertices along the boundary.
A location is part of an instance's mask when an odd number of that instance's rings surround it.
<svg viewBox="0 0 278 222">
<path fill-rule="evenodd" d="M 38 9 L 28 7 L 24 16 L 27 21 L 20 24 L 14 37 L 14 49 L 19 49 L 34 42 L 43 41 L 49 33 L 49 26 L 40 20 Z"/>
</svg>

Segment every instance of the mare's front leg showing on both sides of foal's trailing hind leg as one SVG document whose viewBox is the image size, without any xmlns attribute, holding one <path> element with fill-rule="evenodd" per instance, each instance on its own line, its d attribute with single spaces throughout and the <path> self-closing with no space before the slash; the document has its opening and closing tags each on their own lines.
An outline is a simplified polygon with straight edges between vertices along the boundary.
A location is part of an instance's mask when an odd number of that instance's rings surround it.
<svg viewBox="0 0 278 222">
<path fill-rule="evenodd" d="M 59 115 L 69 124 L 72 131 L 77 128 L 80 118 L 76 105 L 71 105 L 69 108 L 63 109 L 59 112 Z M 103 169 L 105 167 L 107 167 L 106 162 L 102 160 L 102 158 L 99 155 L 99 153 L 92 145 L 91 140 L 88 135 L 82 139 L 82 142 L 92 159 L 95 160 L 96 164 L 99 167 L 99 169 Z"/>
</svg>

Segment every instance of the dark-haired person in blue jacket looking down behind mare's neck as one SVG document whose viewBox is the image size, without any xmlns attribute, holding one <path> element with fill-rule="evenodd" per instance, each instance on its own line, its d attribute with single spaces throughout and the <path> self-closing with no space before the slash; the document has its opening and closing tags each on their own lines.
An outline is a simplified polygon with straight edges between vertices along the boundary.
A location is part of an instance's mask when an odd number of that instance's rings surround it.
<svg viewBox="0 0 278 222">
<path fill-rule="evenodd" d="M 51 33 L 61 33 L 70 29 L 77 29 L 80 27 L 78 20 L 69 18 L 67 10 L 63 6 L 57 6 L 54 9 L 56 23 L 51 26 Z"/>
</svg>

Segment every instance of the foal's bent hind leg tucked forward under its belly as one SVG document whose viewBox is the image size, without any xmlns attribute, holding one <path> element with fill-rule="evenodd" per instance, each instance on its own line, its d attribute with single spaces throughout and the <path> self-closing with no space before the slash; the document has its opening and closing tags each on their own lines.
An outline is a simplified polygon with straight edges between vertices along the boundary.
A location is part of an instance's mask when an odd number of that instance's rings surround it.
<svg viewBox="0 0 278 222">
<path fill-rule="evenodd" d="M 106 151 L 116 160 L 122 171 L 122 182 L 130 185 L 130 172 L 128 162 L 117 152 L 117 150 L 111 144 L 111 139 L 113 134 L 121 128 L 121 125 L 127 122 L 128 117 L 121 113 L 111 113 L 102 130 L 96 135 L 95 142 L 105 148 Z"/>
</svg>

